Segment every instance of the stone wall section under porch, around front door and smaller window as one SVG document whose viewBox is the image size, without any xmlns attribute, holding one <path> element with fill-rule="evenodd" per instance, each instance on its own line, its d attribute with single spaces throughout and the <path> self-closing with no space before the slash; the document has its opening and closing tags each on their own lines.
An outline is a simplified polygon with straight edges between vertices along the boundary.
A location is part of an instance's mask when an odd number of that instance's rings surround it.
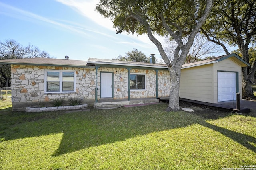
<svg viewBox="0 0 256 170">
<path fill-rule="evenodd" d="M 100 96 L 100 72 L 114 73 L 114 99 L 128 99 L 128 70 L 126 68 L 98 68 L 98 98 Z M 130 73 L 146 74 L 146 90 L 130 90 L 130 98 L 156 97 L 156 71 L 147 69 L 131 69 Z M 121 76 L 122 78 L 119 78 Z M 158 71 L 158 97 L 170 95 L 170 75 L 168 71 Z"/>
</svg>

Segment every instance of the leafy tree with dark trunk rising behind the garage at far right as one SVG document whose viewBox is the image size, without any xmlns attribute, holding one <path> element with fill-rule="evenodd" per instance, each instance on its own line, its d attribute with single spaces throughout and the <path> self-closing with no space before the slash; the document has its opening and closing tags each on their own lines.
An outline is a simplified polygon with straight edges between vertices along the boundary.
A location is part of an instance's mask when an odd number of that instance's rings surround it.
<svg viewBox="0 0 256 170">
<path fill-rule="evenodd" d="M 242 58 L 251 62 L 250 67 L 242 68 L 242 98 L 256 99 L 249 81 L 256 72 L 256 60 L 248 53 L 256 43 L 255 16 L 256 0 L 218 0 L 202 27 L 208 40 L 221 45 L 227 54 L 224 43 L 238 45 Z"/>
</svg>

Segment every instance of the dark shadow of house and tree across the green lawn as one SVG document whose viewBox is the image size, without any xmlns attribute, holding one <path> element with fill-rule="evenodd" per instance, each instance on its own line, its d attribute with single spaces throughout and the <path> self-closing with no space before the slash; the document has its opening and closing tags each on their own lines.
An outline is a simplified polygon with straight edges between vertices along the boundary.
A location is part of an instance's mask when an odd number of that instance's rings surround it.
<svg viewBox="0 0 256 170">
<path fill-rule="evenodd" d="M 206 123 L 186 112 L 165 112 L 165 104 L 90 112 L 12 113 L 1 115 L 0 138 L 5 140 L 63 133 L 53 156 L 89 147 L 124 141 L 131 137 L 200 124 L 218 131 L 255 152 L 248 142 L 255 138 Z M 230 114 L 227 114 L 227 116 Z M 240 140 L 244 139 L 244 141 Z M 248 142 L 245 142 L 248 141 Z"/>
</svg>

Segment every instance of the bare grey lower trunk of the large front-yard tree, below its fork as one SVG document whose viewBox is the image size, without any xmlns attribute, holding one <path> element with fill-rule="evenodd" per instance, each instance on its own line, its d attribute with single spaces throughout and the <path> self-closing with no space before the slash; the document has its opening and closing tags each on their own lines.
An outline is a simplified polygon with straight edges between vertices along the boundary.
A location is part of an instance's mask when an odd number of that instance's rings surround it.
<svg viewBox="0 0 256 170">
<path fill-rule="evenodd" d="M 171 87 L 170 87 L 170 98 L 169 105 L 165 111 L 179 111 L 179 92 L 180 92 L 180 69 L 170 69 Z"/>
</svg>

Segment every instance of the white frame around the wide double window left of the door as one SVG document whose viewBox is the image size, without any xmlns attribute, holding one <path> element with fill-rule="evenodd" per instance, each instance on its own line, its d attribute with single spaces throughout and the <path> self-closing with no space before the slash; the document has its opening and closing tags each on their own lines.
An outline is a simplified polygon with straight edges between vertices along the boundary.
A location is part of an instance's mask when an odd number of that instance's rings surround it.
<svg viewBox="0 0 256 170">
<path fill-rule="evenodd" d="M 60 91 L 47 91 L 47 72 L 59 72 L 60 73 Z M 74 91 L 62 91 L 62 73 L 73 72 L 74 73 Z M 76 92 L 76 71 L 74 70 L 44 70 L 44 93 L 74 93 Z"/>
</svg>

